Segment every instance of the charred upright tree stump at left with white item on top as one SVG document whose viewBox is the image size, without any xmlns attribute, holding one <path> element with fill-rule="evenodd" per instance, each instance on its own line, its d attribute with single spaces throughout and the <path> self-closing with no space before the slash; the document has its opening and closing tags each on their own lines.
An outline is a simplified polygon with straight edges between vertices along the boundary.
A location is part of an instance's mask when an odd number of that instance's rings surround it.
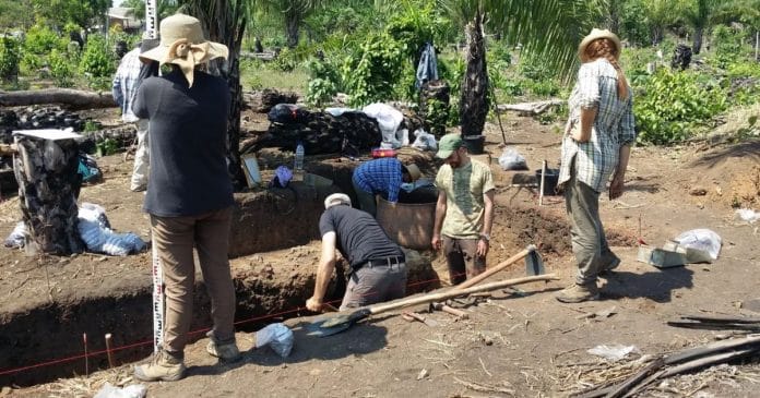
<svg viewBox="0 0 760 398">
<path fill-rule="evenodd" d="M 74 140 L 15 138 L 19 154 L 13 169 L 19 203 L 29 241 L 44 253 L 81 253 L 84 242 L 76 229 L 76 197 L 82 185 L 79 145 Z"/>
</svg>

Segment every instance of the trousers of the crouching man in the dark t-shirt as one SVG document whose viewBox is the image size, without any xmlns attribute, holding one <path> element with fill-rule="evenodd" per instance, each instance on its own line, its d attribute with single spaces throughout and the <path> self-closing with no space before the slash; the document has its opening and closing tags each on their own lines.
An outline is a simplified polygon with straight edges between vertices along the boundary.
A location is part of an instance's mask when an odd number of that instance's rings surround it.
<svg viewBox="0 0 760 398">
<path fill-rule="evenodd" d="M 341 311 L 401 299 L 406 296 L 406 264 L 365 264 L 351 274 Z"/>
</svg>

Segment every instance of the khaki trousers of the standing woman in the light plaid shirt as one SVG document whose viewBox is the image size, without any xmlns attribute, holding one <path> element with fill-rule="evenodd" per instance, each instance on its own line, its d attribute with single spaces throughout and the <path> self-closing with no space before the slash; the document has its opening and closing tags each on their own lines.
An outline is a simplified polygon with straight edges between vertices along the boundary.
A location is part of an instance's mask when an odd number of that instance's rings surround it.
<svg viewBox="0 0 760 398">
<path fill-rule="evenodd" d="M 609 250 L 599 218 L 599 193 L 575 178 L 570 167 L 570 180 L 565 184 L 565 205 L 570 219 L 572 252 L 575 255 L 578 276 L 575 284 L 596 284 L 598 274 L 617 262 Z"/>
</svg>

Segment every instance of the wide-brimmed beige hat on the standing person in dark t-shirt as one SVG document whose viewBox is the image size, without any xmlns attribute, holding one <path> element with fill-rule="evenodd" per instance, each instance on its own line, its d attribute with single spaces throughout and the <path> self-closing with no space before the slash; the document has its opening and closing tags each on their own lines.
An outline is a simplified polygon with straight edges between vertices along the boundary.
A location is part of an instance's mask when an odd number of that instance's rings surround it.
<svg viewBox="0 0 760 398">
<path fill-rule="evenodd" d="M 174 63 L 192 87 L 193 69 L 216 58 L 227 59 L 227 46 L 203 37 L 201 22 L 190 15 L 175 14 L 161 21 L 158 47 L 142 52 L 140 58 L 158 61 L 161 64 Z"/>
</svg>

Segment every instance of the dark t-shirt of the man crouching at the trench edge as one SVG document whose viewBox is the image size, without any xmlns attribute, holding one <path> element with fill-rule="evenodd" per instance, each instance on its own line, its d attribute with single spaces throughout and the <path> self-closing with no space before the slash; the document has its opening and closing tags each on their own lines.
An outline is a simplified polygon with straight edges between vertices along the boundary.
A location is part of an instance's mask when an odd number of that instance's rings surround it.
<svg viewBox="0 0 760 398">
<path fill-rule="evenodd" d="M 319 219 L 319 231 L 321 236 L 335 232 L 337 250 L 352 267 L 369 260 L 404 255 L 372 216 L 351 206 L 337 205 L 324 210 Z"/>
</svg>

